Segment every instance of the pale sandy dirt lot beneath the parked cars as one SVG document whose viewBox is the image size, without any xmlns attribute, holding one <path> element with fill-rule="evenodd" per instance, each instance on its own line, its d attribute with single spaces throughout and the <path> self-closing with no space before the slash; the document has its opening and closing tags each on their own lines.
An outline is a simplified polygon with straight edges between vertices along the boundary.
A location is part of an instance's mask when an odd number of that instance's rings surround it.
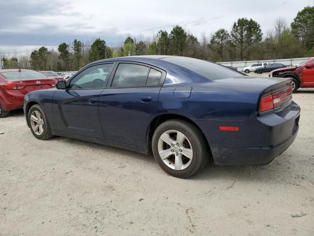
<svg viewBox="0 0 314 236">
<path fill-rule="evenodd" d="M 167 176 L 153 156 L 37 140 L 13 112 L 0 120 L 0 235 L 313 236 L 314 89 L 293 97 L 300 130 L 282 156 L 190 179 Z"/>
</svg>

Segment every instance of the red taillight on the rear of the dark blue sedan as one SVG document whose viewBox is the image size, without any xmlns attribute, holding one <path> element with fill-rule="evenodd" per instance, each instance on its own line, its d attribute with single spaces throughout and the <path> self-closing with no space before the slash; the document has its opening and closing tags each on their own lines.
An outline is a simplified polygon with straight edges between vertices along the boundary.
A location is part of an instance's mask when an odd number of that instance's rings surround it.
<svg viewBox="0 0 314 236">
<path fill-rule="evenodd" d="M 269 111 L 279 107 L 284 101 L 292 97 L 292 87 L 274 92 L 262 97 L 260 104 L 260 112 Z"/>
</svg>

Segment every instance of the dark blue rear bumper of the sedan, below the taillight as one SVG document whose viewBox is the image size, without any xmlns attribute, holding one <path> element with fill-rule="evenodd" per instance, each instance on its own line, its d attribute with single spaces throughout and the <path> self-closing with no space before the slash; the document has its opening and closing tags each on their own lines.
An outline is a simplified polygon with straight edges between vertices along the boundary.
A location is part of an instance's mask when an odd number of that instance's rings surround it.
<svg viewBox="0 0 314 236">
<path fill-rule="evenodd" d="M 283 111 L 262 117 L 252 114 L 245 121 L 213 121 L 214 126 L 238 126 L 239 131 L 207 128 L 205 136 L 217 165 L 263 165 L 283 153 L 299 130 L 300 107 L 292 102 Z M 204 124 L 203 124 L 204 125 Z M 202 127 L 201 127 L 202 128 Z"/>
</svg>

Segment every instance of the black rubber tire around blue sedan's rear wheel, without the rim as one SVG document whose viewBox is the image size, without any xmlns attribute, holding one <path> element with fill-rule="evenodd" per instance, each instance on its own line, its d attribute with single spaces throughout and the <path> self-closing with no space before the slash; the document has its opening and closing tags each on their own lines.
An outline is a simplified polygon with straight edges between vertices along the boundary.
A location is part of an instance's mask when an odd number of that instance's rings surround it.
<svg viewBox="0 0 314 236">
<path fill-rule="evenodd" d="M 174 170 L 168 167 L 163 162 L 159 155 L 158 152 L 159 138 L 164 132 L 168 130 L 176 130 L 183 133 L 183 135 L 186 136 L 186 138 L 191 144 L 193 156 L 190 164 L 183 170 Z M 191 177 L 195 175 L 197 172 L 203 170 L 209 163 L 210 152 L 203 133 L 195 125 L 182 119 L 171 119 L 161 123 L 154 132 L 152 139 L 152 149 L 155 160 L 157 161 L 160 168 L 173 177 L 178 178 Z"/>
</svg>

